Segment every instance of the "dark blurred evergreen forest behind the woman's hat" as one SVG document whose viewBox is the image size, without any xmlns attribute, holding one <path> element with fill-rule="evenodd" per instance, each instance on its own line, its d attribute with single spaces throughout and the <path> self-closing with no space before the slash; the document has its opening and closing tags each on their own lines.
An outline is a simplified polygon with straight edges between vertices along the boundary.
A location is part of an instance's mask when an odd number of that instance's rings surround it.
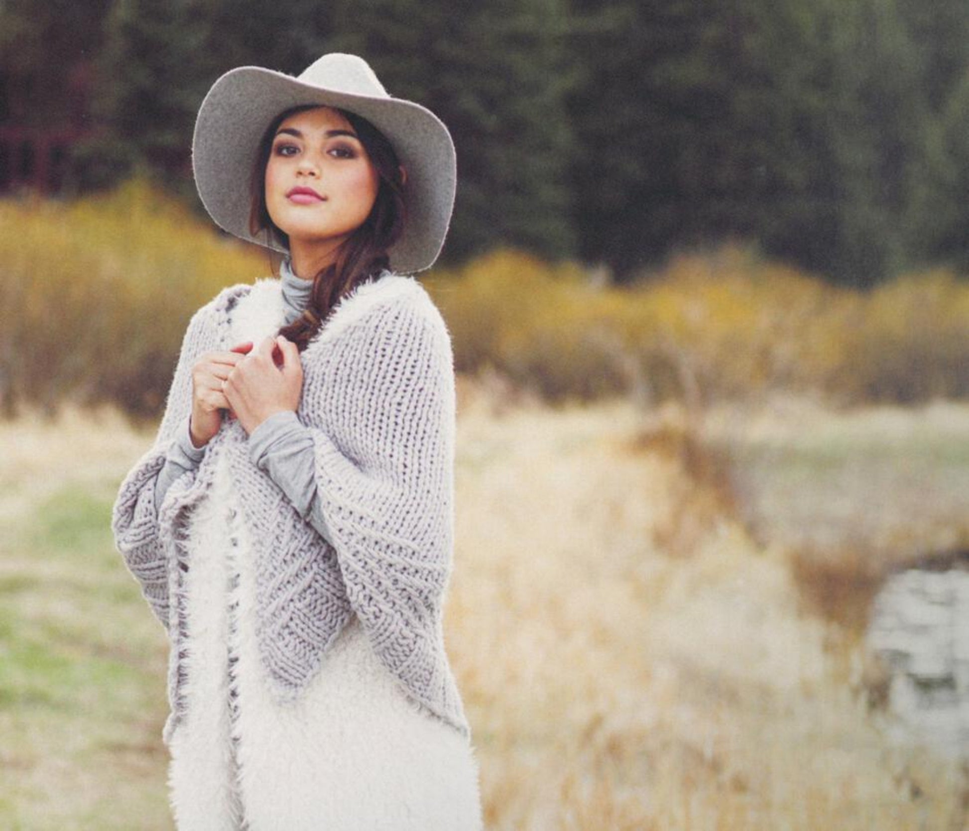
<svg viewBox="0 0 969 831">
<path fill-rule="evenodd" d="M 142 174 L 198 207 L 215 78 L 333 50 L 452 130 L 446 263 L 624 282 L 740 241 L 853 288 L 969 266 L 963 0 L 3 0 L 0 128 L 73 119 L 68 193 Z"/>
</svg>

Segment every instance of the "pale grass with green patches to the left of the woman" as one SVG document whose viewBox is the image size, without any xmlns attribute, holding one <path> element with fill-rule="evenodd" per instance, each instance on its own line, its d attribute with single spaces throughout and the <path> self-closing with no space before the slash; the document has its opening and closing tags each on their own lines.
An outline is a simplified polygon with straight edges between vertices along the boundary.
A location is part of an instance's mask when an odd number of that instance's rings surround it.
<svg viewBox="0 0 969 831">
<path fill-rule="evenodd" d="M 0 827 L 172 827 L 164 635 L 109 533 L 145 439 L 109 416 L 0 427 Z"/>
</svg>

